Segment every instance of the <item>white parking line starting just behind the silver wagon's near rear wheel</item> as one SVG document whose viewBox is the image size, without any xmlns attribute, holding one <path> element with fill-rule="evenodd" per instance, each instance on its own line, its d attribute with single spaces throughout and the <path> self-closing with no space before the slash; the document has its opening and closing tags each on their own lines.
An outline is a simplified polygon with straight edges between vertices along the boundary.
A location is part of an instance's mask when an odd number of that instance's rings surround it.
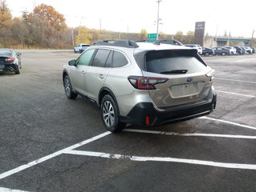
<svg viewBox="0 0 256 192">
<path fill-rule="evenodd" d="M 126 132 L 142 133 L 142 134 L 164 134 L 173 136 L 184 136 L 184 137 L 213 137 L 213 138 L 246 138 L 246 139 L 256 139 L 256 136 L 250 135 L 234 135 L 234 134 L 178 134 L 174 132 L 165 132 L 157 130 L 132 130 L 125 129 Z"/>
</svg>

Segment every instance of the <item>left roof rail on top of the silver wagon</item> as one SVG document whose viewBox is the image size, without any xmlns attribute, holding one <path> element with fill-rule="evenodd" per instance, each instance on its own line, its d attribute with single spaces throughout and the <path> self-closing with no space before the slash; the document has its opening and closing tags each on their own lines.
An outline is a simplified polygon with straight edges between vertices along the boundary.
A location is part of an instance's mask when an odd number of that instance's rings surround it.
<svg viewBox="0 0 256 192">
<path fill-rule="evenodd" d="M 122 46 L 127 48 L 139 47 L 135 41 L 129 39 L 101 40 L 98 42 L 94 42 L 93 46 Z"/>
</svg>

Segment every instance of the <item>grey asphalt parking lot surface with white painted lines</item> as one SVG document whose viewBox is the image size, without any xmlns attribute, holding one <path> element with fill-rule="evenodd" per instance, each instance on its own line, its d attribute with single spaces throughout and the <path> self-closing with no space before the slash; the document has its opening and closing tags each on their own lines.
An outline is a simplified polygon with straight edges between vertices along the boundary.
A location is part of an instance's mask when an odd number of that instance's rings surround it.
<svg viewBox="0 0 256 192">
<path fill-rule="evenodd" d="M 145 129 L 105 130 L 100 110 L 68 100 L 71 50 L 20 50 L 0 74 L 0 191 L 256 191 L 256 55 L 209 57 L 217 109 Z"/>
</svg>

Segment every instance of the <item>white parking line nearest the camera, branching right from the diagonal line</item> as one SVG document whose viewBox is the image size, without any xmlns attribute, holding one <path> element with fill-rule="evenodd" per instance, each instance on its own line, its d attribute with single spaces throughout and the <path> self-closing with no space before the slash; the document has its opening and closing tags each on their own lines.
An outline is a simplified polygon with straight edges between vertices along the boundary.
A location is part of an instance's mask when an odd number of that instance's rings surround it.
<svg viewBox="0 0 256 192">
<path fill-rule="evenodd" d="M 199 166 L 217 166 L 222 168 L 230 169 L 242 169 L 242 170 L 256 170 L 256 165 L 254 164 L 240 164 L 240 163 L 226 163 L 226 162 L 210 162 L 202 161 L 197 159 L 186 159 L 186 158 L 161 158 L 161 157 L 140 157 L 131 156 L 125 154 L 106 154 L 100 152 L 92 151 L 82 151 L 82 150 L 67 150 L 65 154 L 76 154 L 85 155 L 97 158 L 115 158 L 115 159 L 130 159 L 137 162 L 180 162 L 186 164 L 194 164 Z"/>
</svg>

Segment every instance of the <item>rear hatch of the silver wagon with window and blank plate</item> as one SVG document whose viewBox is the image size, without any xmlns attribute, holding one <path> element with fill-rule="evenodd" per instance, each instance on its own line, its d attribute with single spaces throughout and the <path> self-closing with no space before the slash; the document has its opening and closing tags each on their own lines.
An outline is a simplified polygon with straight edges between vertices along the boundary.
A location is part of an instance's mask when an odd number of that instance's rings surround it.
<svg viewBox="0 0 256 192">
<path fill-rule="evenodd" d="M 197 50 L 150 50 L 142 71 L 153 84 L 148 92 L 159 109 L 204 102 L 213 79 Z"/>
</svg>

